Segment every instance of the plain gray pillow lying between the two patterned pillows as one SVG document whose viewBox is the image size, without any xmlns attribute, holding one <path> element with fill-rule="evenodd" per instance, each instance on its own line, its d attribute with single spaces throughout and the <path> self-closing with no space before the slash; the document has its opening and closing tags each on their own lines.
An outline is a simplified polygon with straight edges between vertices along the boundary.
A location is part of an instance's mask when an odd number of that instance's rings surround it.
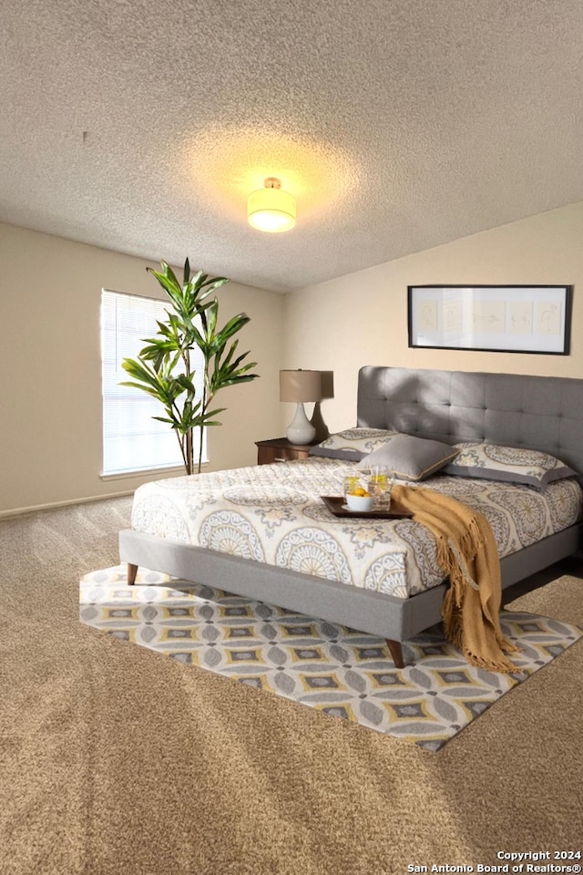
<svg viewBox="0 0 583 875">
<path fill-rule="evenodd" d="M 373 468 L 375 465 L 382 465 L 398 479 L 424 480 L 444 468 L 458 452 L 458 449 L 442 444 L 439 440 L 396 435 L 384 447 L 375 449 L 361 459 L 358 467 Z"/>
</svg>

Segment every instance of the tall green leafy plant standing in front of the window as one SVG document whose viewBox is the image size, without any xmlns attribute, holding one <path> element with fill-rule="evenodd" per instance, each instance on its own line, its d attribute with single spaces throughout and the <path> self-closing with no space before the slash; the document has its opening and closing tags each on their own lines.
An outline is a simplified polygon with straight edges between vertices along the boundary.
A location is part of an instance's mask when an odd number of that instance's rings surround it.
<svg viewBox="0 0 583 875">
<path fill-rule="evenodd" d="M 134 386 L 158 398 L 166 412 L 165 417 L 154 417 L 167 422 L 179 440 L 180 451 L 187 474 L 194 473 L 193 432 L 200 429 L 199 458 L 202 462 L 202 429 L 220 426 L 215 418 L 226 407 L 210 409 L 214 396 L 225 386 L 249 383 L 259 374 L 251 374 L 257 365 L 251 362 L 242 365 L 249 352 L 235 357 L 238 340 L 231 338 L 246 325 L 250 318 L 244 313 L 233 316 L 218 329 L 219 301 L 211 297 L 221 285 L 229 280 L 223 276 L 210 277 L 199 271 L 190 276 L 189 259 L 184 263 L 183 282 L 179 283 L 167 262 L 160 262 L 161 272 L 148 267 L 164 291 L 168 294 L 171 309 L 168 320 L 159 322 L 156 337 L 144 339 L 138 358 L 125 358 L 122 367 L 132 377 L 122 386 Z M 195 372 L 190 365 L 190 352 L 198 347 L 204 358 L 202 394 L 197 396 L 193 379 Z"/>
</svg>

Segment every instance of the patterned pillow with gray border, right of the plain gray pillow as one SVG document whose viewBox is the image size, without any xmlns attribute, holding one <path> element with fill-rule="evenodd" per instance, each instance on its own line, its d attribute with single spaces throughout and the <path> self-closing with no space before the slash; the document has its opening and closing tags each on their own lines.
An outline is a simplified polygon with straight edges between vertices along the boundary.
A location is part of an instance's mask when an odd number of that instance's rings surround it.
<svg viewBox="0 0 583 875">
<path fill-rule="evenodd" d="M 509 483 L 527 483 L 547 489 L 553 480 L 576 477 L 577 471 L 559 458 L 537 449 L 500 447 L 471 441 L 455 444 L 459 454 L 444 469 L 444 474 L 459 477 L 482 477 Z"/>
</svg>

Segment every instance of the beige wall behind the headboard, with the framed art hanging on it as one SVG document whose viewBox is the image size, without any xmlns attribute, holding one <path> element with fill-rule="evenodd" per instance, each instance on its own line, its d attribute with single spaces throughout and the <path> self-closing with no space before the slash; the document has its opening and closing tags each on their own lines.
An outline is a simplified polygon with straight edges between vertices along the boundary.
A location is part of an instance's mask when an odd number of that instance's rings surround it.
<svg viewBox="0 0 583 875">
<path fill-rule="evenodd" d="M 332 431 L 355 423 L 361 365 L 582 377 L 582 241 L 577 203 L 288 294 L 284 366 L 334 372 L 334 399 L 322 404 Z M 571 353 L 409 349 L 407 285 L 427 283 L 572 284 Z M 284 411 L 281 427 L 291 413 Z"/>
</svg>

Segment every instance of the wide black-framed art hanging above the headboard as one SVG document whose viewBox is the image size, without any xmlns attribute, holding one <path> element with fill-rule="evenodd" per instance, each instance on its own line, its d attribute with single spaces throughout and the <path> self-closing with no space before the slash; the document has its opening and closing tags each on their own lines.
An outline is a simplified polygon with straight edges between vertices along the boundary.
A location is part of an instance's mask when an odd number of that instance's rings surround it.
<svg viewBox="0 0 583 875">
<path fill-rule="evenodd" d="M 570 285 L 410 285 L 409 346 L 568 355 Z"/>
</svg>

